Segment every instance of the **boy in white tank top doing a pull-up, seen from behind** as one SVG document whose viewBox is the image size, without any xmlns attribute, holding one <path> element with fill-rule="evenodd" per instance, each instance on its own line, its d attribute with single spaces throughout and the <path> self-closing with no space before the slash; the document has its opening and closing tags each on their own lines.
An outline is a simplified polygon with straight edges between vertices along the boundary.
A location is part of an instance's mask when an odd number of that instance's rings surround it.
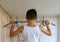
<svg viewBox="0 0 60 42">
<path fill-rule="evenodd" d="M 50 22 L 48 20 L 45 21 L 47 30 L 45 30 L 41 24 L 39 26 L 35 25 L 35 22 L 37 21 L 37 12 L 35 9 L 30 9 L 27 11 L 26 21 L 28 24 L 25 26 L 20 26 L 16 31 L 13 31 L 15 22 L 11 21 L 10 37 L 14 37 L 19 33 L 22 33 L 24 42 L 38 42 L 41 32 L 51 36 L 51 30 L 49 27 Z"/>
</svg>

